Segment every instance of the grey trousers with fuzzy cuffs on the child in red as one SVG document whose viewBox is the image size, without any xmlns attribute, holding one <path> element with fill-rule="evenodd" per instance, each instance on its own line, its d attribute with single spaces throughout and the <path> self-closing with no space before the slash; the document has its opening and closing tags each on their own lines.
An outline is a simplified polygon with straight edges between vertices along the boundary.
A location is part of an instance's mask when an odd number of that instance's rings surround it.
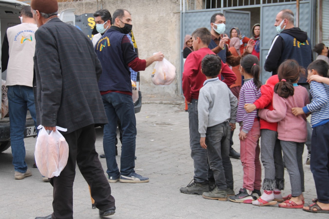
<svg viewBox="0 0 329 219">
<path fill-rule="evenodd" d="M 261 129 L 261 160 L 264 166 L 264 190 L 284 188 L 284 165 L 278 133 Z M 282 183 L 281 183 L 282 182 Z"/>
</svg>

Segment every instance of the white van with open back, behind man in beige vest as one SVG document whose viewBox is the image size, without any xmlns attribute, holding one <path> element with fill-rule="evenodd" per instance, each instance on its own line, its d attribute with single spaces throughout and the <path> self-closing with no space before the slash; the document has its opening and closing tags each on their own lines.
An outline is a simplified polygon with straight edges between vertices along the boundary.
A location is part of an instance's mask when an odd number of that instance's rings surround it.
<svg viewBox="0 0 329 219">
<path fill-rule="evenodd" d="M 16 0 L 0 0 L 0 36 L 1 36 L 1 46 L 3 42 L 3 37 L 5 36 L 7 29 L 9 27 L 20 24 L 20 19 L 18 16 L 20 15 L 20 10 L 23 6 L 26 6 L 23 2 L 19 2 Z M 0 51 L 1 54 L 1 51 Z M 0 59 L 0 67 L 1 67 L 1 59 Z M 6 71 L 0 71 L 1 78 L 6 80 Z M 0 97 L 2 97 L 1 89 L 0 89 Z M 0 107 L 1 111 L 1 107 Z M 1 113 L 0 113 L 1 114 Z M 1 118 L 1 117 L 0 117 Z M 26 132 L 24 133 L 24 137 L 32 137 L 37 135 L 37 131 L 34 126 L 34 121 L 29 114 L 26 116 Z M 7 150 L 10 147 L 10 125 L 9 118 L 5 117 L 0 119 L 0 153 Z"/>
</svg>

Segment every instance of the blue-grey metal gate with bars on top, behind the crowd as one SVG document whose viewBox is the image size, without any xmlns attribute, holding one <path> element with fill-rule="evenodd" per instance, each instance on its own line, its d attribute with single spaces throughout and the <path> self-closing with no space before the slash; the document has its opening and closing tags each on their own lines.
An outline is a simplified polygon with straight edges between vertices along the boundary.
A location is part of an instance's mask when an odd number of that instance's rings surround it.
<svg viewBox="0 0 329 219">
<path fill-rule="evenodd" d="M 231 2 L 231 3 L 230 3 Z M 184 37 L 186 34 L 191 34 L 199 27 L 210 28 L 210 18 L 214 13 L 224 13 L 226 17 L 226 31 L 228 34 L 230 29 L 234 26 L 239 27 L 241 33 L 246 37 L 250 36 L 250 12 L 258 8 L 260 10 L 260 24 L 261 24 L 261 44 L 260 44 L 260 63 L 264 66 L 265 58 L 277 32 L 274 27 L 276 14 L 283 9 L 290 9 L 295 15 L 296 20 L 296 1 L 295 0 L 181 0 L 181 49 L 184 44 Z M 274 3 L 273 3 L 274 2 Z M 299 27 L 308 33 L 311 38 L 312 46 L 315 42 L 315 30 L 312 26 L 315 24 L 315 2 L 313 0 L 300 0 L 299 9 Z M 199 5 L 198 5 L 199 4 Z M 215 7 L 221 8 L 215 8 Z M 193 9 L 193 10 L 190 10 Z M 199 10 L 194 10 L 199 9 Z M 240 11 L 237 11 L 240 10 Z M 243 11 L 242 11 L 243 10 Z M 249 16 L 240 17 L 240 16 Z M 248 29 L 246 29 L 248 27 Z M 181 50 L 181 73 L 183 72 L 183 50 Z M 261 80 L 263 83 L 271 75 L 262 67 Z"/>
</svg>

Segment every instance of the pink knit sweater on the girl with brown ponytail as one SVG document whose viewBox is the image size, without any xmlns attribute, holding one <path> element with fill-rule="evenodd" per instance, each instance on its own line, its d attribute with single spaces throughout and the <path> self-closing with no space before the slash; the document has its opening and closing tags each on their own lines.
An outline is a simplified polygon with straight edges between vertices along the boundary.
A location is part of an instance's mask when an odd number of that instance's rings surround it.
<svg viewBox="0 0 329 219">
<path fill-rule="evenodd" d="M 259 117 L 268 122 L 278 122 L 278 139 L 305 142 L 307 140 L 306 115 L 294 116 L 291 108 L 304 107 L 310 103 L 308 92 L 300 85 L 294 87 L 294 94 L 288 98 L 273 94 L 273 110 L 260 109 Z"/>
</svg>

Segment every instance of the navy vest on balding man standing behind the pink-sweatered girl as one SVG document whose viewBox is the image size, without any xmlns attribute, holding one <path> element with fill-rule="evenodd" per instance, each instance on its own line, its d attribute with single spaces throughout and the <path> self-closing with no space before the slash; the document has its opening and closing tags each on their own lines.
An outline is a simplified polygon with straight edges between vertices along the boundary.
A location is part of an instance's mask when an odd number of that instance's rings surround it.
<svg viewBox="0 0 329 219">
<path fill-rule="evenodd" d="M 308 65 L 312 62 L 312 46 L 310 38 L 306 42 L 299 42 L 296 38 L 289 34 L 281 33 L 280 37 L 284 40 L 284 49 L 280 58 L 280 64 L 286 59 L 296 60 L 300 66 L 307 69 Z M 300 75 L 298 83 L 307 83 L 306 75 Z"/>
</svg>

